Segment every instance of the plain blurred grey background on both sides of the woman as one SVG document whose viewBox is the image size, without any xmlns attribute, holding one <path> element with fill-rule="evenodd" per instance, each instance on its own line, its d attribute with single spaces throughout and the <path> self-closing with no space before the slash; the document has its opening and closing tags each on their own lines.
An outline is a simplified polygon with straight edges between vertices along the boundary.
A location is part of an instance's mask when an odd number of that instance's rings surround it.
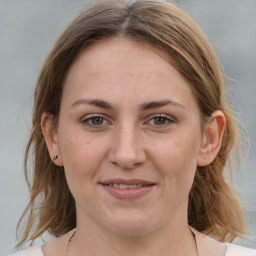
<svg viewBox="0 0 256 256">
<path fill-rule="evenodd" d="M 256 248 L 256 0 L 180 0 L 212 42 L 229 79 L 229 95 L 250 136 L 234 187 Z M 41 65 L 65 26 L 86 6 L 79 0 L 0 0 L 0 255 L 16 243 L 28 202 L 23 157 L 33 89 Z"/>
</svg>

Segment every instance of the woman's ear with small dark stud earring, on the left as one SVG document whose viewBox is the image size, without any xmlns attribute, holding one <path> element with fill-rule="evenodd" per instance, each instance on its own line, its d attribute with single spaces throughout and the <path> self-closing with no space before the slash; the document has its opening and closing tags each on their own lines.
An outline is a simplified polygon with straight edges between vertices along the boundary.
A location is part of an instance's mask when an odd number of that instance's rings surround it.
<svg viewBox="0 0 256 256">
<path fill-rule="evenodd" d="M 43 113 L 41 117 L 41 129 L 50 154 L 50 158 L 53 160 L 54 164 L 63 166 L 58 144 L 58 133 L 54 127 L 54 120 L 52 115 Z M 56 159 L 54 159 L 55 156 L 57 156 Z"/>
</svg>

